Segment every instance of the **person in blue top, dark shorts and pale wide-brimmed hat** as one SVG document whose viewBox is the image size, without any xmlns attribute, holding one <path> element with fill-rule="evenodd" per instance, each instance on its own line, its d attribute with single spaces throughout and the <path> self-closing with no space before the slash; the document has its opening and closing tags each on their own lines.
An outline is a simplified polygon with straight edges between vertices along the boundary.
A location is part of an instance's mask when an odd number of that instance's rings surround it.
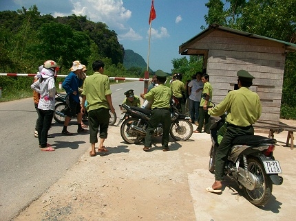
<svg viewBox="0 0 296 221">
<path fill-rule="evenodd" d="M 67 126 L 70 123 L 70 120 L 72 117 L 76 117 L 77 115 L 77 124 L 78 124 L 78 133 L 84 133 L 87 132 L 87 130 L 83 129 L 81 127 L 82 122 L 82 113 L 81 113 L 81 105 L 80 105 L 80 99 L 79 99 L 79 93 L 78 88 L 82 86 L 83 84 L 83 68 L 85 65 L 81 65 L 81 62 L 78 60 L 75 60 L 73 62 L 72 67 L 70 68 L 70 73 L 67 75 L 65 80 L 63 81 L 63 89 L 67 92 L 67 95 L 69 95 L 69 102 L 70 102 L 70 109 L 65 112 L 65 121 L 64 126 L 62 130 L 63 135 L 73 135 L 72 132 L 67 131 Z"/>
</svg>

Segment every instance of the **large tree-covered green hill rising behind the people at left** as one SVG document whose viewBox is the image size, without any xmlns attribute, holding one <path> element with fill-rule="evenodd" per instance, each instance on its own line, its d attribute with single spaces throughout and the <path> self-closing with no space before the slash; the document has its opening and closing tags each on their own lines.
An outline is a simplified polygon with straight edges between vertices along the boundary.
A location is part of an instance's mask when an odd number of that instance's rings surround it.
<svg viewBox="0 0 296 221">
<path fill-rule="evenodd" d="M 0 12 L 0 73 L 36 73 L 45 60 L 55 60 L 67 75 L 74 60 L 87 65 L 92 74 L 92 62 L 103 60 L 105 74 L 142 78 L 144 71 L 127 70 L 123 66 L 124 49 L 117 34 L 105 23 L 94 23 L 86 16 L 54 18 L 41 15 L 33 5 L 17 12 Z M 134 64 L 137 69 L 137 64 Z M 58 78 L 59 82 L 64 78 Z M 0 76 L 0 102 L 32 96 L 32 78 Z"/>
</svg>

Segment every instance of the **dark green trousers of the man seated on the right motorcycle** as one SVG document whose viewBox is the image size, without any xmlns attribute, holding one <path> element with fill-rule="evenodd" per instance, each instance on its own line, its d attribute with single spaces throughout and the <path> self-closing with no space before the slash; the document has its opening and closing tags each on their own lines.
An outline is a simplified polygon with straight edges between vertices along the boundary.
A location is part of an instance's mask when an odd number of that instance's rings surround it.
<svg viewBox="0 0 296 221">
<path fill-rule="evenodd" d="M 235 137 L 242 135 L 254 135 L 253 126 L 240 127 L 233 124 L 227 124 L 226 132 L 220 145 L 218 146 L 215 156 L 215 181 L 223 181 L 224 167 L 229 150 L 233 146 L 232 141 Z"/>
</svg>

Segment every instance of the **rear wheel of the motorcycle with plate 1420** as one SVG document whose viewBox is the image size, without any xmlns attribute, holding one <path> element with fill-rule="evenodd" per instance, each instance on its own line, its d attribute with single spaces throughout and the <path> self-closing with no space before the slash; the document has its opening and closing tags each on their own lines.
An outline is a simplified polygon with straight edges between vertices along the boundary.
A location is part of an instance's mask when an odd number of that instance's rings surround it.
<svg viewBox="0 0 296 221">
<path fill-rule="evenodd" d="M 271 192 L 273 191 L 273 183 L 271 178 L 266 174 L 264 165 L 256 158 L 248 159 L 249 172 L 259 178 L 259 186 L 253 190 L 243 188 L 246 199 L 253 205 L 260 207 L 266 205 Z"/>
</svg>

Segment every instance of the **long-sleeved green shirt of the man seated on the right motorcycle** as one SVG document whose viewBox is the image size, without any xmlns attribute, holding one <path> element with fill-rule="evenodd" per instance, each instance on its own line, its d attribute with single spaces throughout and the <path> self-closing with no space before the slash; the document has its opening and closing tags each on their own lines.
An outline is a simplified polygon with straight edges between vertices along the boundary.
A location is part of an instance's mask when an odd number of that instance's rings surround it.
<svg viewBox="0 0 296 221">
<path fill-rule="evenodd" d="M 229 91 L 224 100 L 208 111 L 209 115 L 221 116 L 225 112 L 229 114 L 226 121 L 236 126 L 250 126 L 255 124 L 261 116 L 262 106 L 257 93 L 246 87 L 235 91 Z"/>
</svg>

